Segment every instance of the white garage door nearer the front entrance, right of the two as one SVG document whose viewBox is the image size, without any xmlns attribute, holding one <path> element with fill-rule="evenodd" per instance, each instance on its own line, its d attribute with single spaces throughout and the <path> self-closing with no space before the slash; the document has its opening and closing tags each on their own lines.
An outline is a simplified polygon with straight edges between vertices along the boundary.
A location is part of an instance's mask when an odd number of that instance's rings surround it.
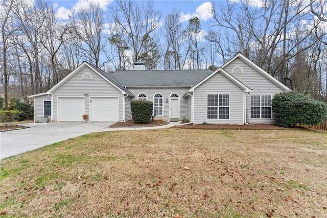
<svg viewBox="0 0 327 218">
<path fill-rule="evenodd" d="M 118 98 L 91 98 L 91 121 L 118 122 Z"/>
</svg>

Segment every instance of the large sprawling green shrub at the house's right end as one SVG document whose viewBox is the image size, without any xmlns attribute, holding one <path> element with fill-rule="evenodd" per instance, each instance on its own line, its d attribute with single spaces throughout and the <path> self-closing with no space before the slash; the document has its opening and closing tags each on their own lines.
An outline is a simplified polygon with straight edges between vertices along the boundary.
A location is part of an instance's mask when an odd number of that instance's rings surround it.
<svg viewBox="0 0 327 218">
<path fill-rule="evenodd" d="M 275 94 L 271 103 L 278 126 L 316 125 L 326 117 L 325 103 L 297 91 Z"/>
</svg>

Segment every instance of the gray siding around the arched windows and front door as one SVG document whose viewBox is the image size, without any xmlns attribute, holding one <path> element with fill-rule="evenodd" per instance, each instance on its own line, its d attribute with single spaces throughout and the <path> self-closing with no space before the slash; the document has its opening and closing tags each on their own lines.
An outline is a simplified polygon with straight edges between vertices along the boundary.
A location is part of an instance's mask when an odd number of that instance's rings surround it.
<svg viewBox="0 0 327 218">
<path fill-rule="evenodd" d="M 182 119 L 186 117 L 186 99 L 183 95 L 188 90 L 188 88 L 128 88 L 135 96 L 132 101 L 137 100 L 139 93 L 145 93 L 148 97 L 148 101 L 153 102 L 153 96 L 156 93 L 162 94 L 162 106 L 163 106 L 163 116 L 156 116 L 156 119 L 169 119 L 170 118 L 170 108 L 169 99 L 172 93 L 177 93 L 179 95 L 179 118 Z M 168 99 L 168 103 L 166 103 Z"/>
</svg>

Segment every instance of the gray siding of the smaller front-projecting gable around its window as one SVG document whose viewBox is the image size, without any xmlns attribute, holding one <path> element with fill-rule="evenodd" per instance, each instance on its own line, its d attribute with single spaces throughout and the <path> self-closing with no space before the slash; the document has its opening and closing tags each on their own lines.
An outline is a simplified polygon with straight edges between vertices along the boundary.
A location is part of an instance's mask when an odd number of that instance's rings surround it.
<svg viewBox="0 0 327 218">
<path fill-rule="evenodd" d="M 207 119 L 207 94 L 229 94 L 229 119 Z M 244 90 L 219 72 L 194 90 L 194 124 L 244 124 Z"/>
</svg>

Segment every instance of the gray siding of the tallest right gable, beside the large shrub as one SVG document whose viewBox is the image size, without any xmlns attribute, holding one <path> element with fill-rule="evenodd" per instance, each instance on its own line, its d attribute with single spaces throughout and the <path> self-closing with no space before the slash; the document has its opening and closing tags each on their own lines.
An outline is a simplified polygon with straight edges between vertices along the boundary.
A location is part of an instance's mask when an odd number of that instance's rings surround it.
<svg viewBox="0 0 327 218">
<path fill-rule="evenodd" d="M 243 69 L 243 74 L 231 74 L 234 67 L 239 66 Z M 270 80 L 265 78 L 260 72 L 246 64 L 240 59 L 235 59 L 230 64 L 224 67 L 233 77 L 237 78 L 247 87 L 252 89 L 250 95 L 272 95 L 283 92 L 282 88 L 272 83 Z M 246 96 L 246 118 L 248 123 L 275 123 L 274 115 L 272 113 L 271 119 L 251 119 L 250 118 L 250 95 Z"/>
</svg>

